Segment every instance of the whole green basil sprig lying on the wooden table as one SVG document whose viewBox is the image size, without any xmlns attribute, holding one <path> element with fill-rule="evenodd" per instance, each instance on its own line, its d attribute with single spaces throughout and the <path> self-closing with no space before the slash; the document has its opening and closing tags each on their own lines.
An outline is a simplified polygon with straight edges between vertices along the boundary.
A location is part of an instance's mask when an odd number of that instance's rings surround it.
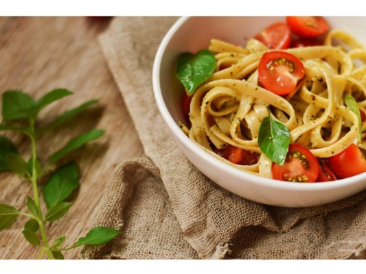
<svg viewBox="0 0 366 274">
<path fill-rule="evenodd" d="M 24 225 L 22 233 L 31 245 L 41 249 L 37 258 L 42 258 L 45 253 L 49 259 L 63 259 L 63 251 L 79 247 L 80 245 L 102 245 L 122 234 L 117 229 L 94 227 L 86 237 L 80 238 L 71 247 L 62 247 L 65 242 L 65 235 L 56 238 L 54 243 L 49 245 L 45 234 L 47 222 L 58 221 L 58 219 L 67 214 L 72 205 L 71 197 L 80 187 L 80 176 L 76 163 L 69 162 L 58 167 L 58 162 L 87 142 L 96 140 L 104 134 L 103 130 L 92 129 L 90 132 L 71 139 L 67 145 L 55 151 L 48 161 L 41 161 L 37 157 L 36 140 L 38 136 L 64 125 L 76 115 L 87 110 L 89 106 L 98 102 L 98 100 L 87 101 L 72 110 L 60 114 L 45 127 L 36 127 L 38 112 L 45 106 L 72 94 L 69 90 L 59 88 L 48 92 L 36 101 L 21 90 L 9 90 L 3 93 L 2 114 L 5 123 L 0 124 L 0 131 L 21 132 L 28 136 L 32 144 L 32 155 L 26 161 L 19 154 L 12 140 L 8 137 L 0 136 L 0 171 L 12 171 L 22 179 L 31 182 L 34 198 L 27 197 L 27 212 L 0 203 L 0 230 L 11 227 L 20 215 L 29 218 Z M 47 162 L 47 164 L 44 165 L 43 162 Z M 42 188 L 47 212 L 42 212 L 41 201 L 38 195 L 38 179 L 49 173 L 49 171 L 52 171 L 52 173 Z"/>
</svg>

